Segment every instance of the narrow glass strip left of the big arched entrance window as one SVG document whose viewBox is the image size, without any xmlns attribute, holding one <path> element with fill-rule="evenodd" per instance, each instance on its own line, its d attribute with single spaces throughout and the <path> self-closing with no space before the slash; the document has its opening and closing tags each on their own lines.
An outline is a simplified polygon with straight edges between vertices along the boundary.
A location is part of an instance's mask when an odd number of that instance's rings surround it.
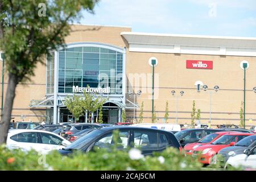
<svg viewBox="0 0 256 182">
<path fill-rule="evenodd" d="M 53 93 L 54 89 L 54 52 L 47 55 L 47 78 L 46 78 L 46 93 Z"/>
</svg>

